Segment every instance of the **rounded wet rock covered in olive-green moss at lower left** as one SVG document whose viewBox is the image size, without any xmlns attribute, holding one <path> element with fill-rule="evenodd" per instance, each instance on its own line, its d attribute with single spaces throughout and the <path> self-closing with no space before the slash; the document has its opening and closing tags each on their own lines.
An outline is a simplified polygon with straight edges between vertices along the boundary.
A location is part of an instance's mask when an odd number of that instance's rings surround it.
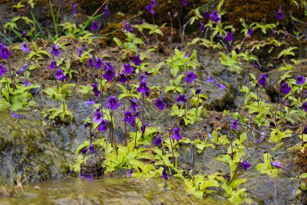
<svg viewBox="0 0 307 205">
<path fill-rule="evenodd" d="M 23 116 L 24 117 L 24 116 Z M 0 184 L 58 179 L 67 173 L 64 151 L 51 143 L 42 122 L 33 116 L 16 119 L 8 112 L 0 118 Z"/>
</svg>

